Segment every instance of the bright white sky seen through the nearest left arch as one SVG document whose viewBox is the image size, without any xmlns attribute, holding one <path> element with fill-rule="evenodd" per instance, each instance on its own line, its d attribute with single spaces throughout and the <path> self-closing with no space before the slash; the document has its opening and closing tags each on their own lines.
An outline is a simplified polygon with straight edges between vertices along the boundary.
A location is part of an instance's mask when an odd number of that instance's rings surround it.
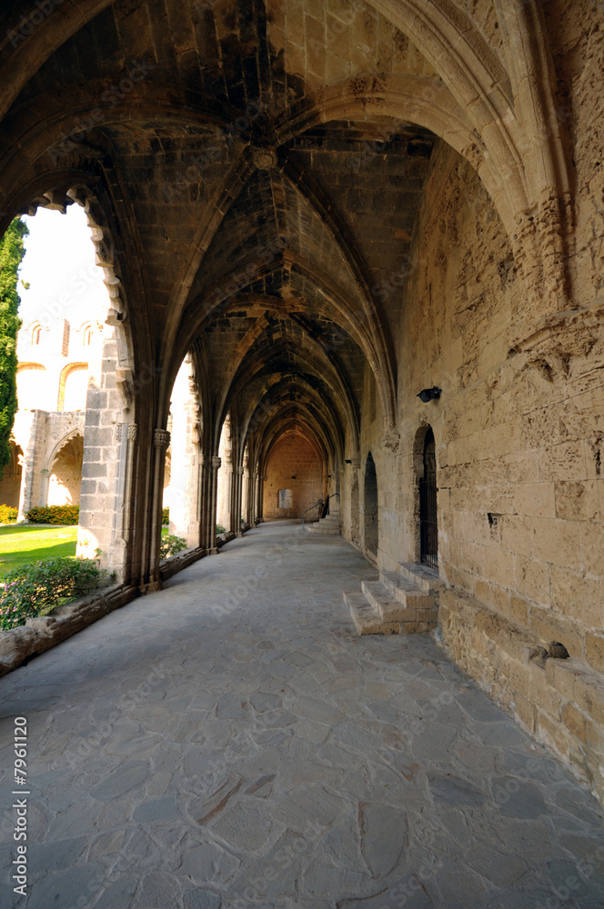
<svg viewBox="0 0 604 909">
<path fill-rule="evenodd" d="M 103 269 L 95 265 L 95 247 L 86 224 L 84 209 L 70 205 L 66 215 L 38 208 L 25 217 L 25 257 L 19 271 L 19 315 L 24 325 L 39 320 L 43 325 L 56 317 L 74 327 L 92 316 L 97 306 L 107 306 Z"/>
</svg>

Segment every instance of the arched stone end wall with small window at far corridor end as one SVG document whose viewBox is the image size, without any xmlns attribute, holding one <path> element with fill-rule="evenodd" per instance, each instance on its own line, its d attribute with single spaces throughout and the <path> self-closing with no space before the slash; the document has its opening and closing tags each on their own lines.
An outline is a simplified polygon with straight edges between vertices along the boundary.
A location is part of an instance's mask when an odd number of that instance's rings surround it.
<svg viewBox="0 0 604 909">
<path fill-rule="evenodd" d="M 279 439 L 268 458 L 266 475 L 265 518 L 301 517 L 323 496 L 321 464 L 312 445 L 302 435 L 285 435 Z M 289 508 L 278 507 L 280 489 L 291 490 Z"/>
</svg>

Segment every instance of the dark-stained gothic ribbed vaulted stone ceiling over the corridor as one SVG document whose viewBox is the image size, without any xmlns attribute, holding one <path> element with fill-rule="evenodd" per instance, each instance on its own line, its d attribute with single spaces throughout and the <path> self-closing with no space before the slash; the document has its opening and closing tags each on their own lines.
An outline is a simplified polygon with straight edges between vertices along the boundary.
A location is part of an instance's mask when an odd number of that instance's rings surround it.
<svg viewBox="0 0 604 909">
<path fill-rule="evenodd" d="M 400 294 L 387 288 L 404 282 L 435 134 L 488 168 L 446 67 L 414 44 L 421 5 L 400 4 L 405 30 L 377 0 L 3 14 L 2 216 L 61 208 L 73 186 L 95 195 L 135 368 L 162 369 L 159 419 L 188 350 L 212 445 L 229 411 L 258 433 L 280 408 L 342 454 L 366 369 L 391 417 Z M 459 6 L 456 27 L 503 108 L 494 10 Z"/>
</svg>

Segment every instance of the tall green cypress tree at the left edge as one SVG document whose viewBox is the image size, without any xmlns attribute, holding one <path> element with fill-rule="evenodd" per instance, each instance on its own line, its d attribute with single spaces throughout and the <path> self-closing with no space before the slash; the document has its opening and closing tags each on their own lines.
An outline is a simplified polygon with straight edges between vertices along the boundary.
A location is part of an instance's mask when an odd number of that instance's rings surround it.
<svg viewBox="0 0 604 909">
<path fill-rule="evenodd" d="M 16 335 L 21 327 L 17 315 L 21 301 L 16 288 L 27 234 L 25 222 L 15 218 L 0 240 L 0 476 L 10 461 L 8 440 L 17 410 Z"/>
</svg>

